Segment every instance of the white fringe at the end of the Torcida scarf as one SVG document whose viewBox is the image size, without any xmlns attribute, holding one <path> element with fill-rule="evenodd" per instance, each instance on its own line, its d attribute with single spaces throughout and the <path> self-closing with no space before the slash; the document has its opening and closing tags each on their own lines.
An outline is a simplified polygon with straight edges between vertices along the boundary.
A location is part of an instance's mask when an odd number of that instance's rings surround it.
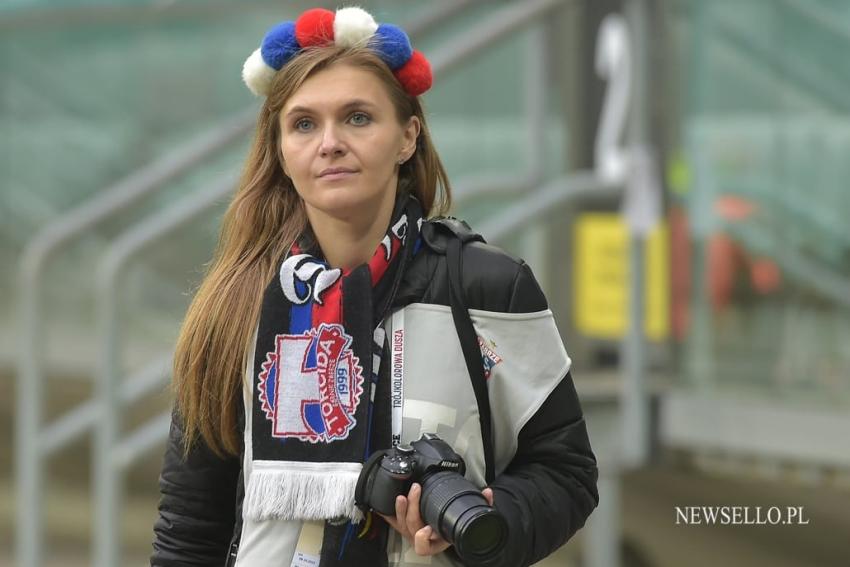
<svg viewBox="0 0 850 567">
<path fill-rule="evenodd" d="M 360 463 L 255 461 L 245 489 L 245 517 L 254 521 L 363 519 L 354 505 Z"/>
</svg>

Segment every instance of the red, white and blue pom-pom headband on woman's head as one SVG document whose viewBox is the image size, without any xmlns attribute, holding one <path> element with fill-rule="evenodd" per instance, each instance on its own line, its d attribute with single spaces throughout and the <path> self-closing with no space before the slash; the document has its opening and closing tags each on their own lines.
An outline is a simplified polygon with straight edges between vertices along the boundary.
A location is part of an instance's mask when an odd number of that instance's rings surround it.
<svg viewBox="0 0 850 567">
<path fill-rule="evenodd" d="M 294 22 L 282 22 L 268 31 L 259 49 L 242 67 L 242 79 L 257 96 L 267 96 L 277 71 L 299 51 L 319 45 L 350 47 L 367 44 L 389 66 L 404 90 L 412 96 L 431 88 L 431 65 L 410 46 L 404 30 L 375 22 L 362 8 L 307 10 Z"/>
</svg>

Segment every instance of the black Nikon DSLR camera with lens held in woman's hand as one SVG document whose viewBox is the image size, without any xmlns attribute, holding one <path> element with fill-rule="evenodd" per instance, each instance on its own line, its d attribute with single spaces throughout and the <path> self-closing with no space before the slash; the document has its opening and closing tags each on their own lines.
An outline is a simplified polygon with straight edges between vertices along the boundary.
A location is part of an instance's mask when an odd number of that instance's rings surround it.
<svg viewBox="0 0 850 567">
<path fill-rule="evenodd" d="M 373 454 L 357 480 L 355 501 L 360 508 L 395 516 L 396 497 L 407 496 L 418 482 L 425 523 L 454 545 L 465 564 L 484 565 L 502 551 L 507 523 L 465 472 L 463 458 L 448 443 L 425 433 L 410 445 Z"/>
</svg>

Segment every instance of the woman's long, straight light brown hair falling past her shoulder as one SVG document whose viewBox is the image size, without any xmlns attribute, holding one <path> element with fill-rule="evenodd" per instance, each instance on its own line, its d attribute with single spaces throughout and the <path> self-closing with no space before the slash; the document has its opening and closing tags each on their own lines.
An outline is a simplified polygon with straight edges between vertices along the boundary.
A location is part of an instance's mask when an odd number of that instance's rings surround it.
<svg viewBox="0 0 850 567">
<path fill-rule="evenodd" d="M 219 456 L 239 453 L 237 408 L 263 291 L 275 262 L 308 225 L 303 201 L 283 172 L 278 114 L 307 78 L 341 64 L 370 71 L 384 84 L 399 123 L 419 118 L 416 151 L 399 169 L 397 192 L 413 193 L 426 217 L 445 214 L 451 206 L 448 177 L 419 99 L 403 90 L 370 48 L 309 48 L 281 69 L 260 110 L 214 257 L 177 339 L 174 389 L 187 452 L 200 436 Z"/>
</svg>

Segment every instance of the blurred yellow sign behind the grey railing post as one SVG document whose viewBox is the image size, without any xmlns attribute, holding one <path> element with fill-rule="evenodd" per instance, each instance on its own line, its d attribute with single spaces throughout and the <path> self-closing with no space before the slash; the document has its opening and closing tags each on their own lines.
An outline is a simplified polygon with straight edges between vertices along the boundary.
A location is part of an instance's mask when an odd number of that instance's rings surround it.
<svg viewBox="0 0 850 567">
<path fill-rule="evenodd" d="M 666 223 L 646 241 L 644 317 L 648 338 L 669 333 L 670 257 Z M 597 338 L 622 338 L 629 323 L 629 234 L 616 213 L 585 213 L 575 224 L 573 299 L 576 328 Z"/>
</svg>

